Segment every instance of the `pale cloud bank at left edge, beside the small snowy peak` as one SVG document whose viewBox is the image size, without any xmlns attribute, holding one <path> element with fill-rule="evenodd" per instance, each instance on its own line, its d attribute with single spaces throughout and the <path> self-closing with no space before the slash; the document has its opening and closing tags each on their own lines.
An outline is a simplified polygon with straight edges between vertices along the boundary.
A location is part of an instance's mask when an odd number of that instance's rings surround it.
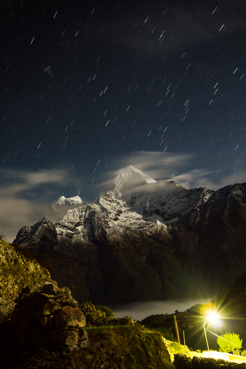
<svg viewBox="0 0 246 369">
<path fill-rule="evenodd" d="M 66 170 L 6 170 L 1 173 L 1 180 L 0 230 L 10 242 L 21 227 L 33 225 L 47 216 L 48 204 L 58 198 L 58 187 L 64 188 L 76 183 L 76 178 L 71 177 Z M 63 213 L 59 213 L 60 217 Z M 57 220 L 58 215 L 49 215 L 51 220 Z"/>
</svg>

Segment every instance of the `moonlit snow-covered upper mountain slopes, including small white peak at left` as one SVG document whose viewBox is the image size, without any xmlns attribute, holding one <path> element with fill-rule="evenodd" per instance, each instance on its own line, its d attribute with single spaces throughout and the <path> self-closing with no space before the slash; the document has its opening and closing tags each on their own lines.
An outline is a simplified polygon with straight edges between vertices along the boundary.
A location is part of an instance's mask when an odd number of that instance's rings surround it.
<svg viewBox="0 0 246 369">
<path fill-rule="evenodd" d="M 182 215 L 204 204 L 212 193 L 206 188 L 188 190 L 174 181 L 156 181 L 129 166 L 115 178 L 114 189 L 98 197 L 94 205 L 70 209 L 56 222 L 58 240 L 66 248 L 105 234 L 111 240 L 167 234 Z M 62 196 L 56 204 L 76 203 L 82 203 L 79 196 Z"/>
</svg>

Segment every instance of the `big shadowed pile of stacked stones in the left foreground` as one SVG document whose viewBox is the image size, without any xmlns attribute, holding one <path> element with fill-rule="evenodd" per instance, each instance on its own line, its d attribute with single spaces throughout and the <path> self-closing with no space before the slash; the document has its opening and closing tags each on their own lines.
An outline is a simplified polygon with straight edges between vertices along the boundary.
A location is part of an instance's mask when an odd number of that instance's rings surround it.
<svg viewBox="0 0 246 369">
<path fill-rule="evenodd" d="M 67 287 L 50 282 L 28 286 L 15 302 L 11 322 L 24 345 L 55 346 L 68 353 L 89 346 L 86 318 Z"/>
</svg>

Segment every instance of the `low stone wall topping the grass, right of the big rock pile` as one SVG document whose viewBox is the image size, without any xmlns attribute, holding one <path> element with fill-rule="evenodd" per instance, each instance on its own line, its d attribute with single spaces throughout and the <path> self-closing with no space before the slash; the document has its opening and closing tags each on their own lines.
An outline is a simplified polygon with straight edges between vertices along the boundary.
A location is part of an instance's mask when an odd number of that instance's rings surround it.
<svg viewBox="0 0 246 369">
<path fill-rule="evenodd" d="M 106 317 L 103 311 L 97 310 L 93 304 L 82 304 L 80 309 L 86 317 L 86 326 L 99 327 L 100 325 L 133 325 L 130 317 L 113 318 Z"/>
</svg>

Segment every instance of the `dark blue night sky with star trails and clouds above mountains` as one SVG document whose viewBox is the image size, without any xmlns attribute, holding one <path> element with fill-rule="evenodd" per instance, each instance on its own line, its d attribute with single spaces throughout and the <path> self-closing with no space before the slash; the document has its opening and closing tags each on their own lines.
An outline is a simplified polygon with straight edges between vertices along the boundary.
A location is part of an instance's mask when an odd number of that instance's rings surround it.
<svg viewBox="0 0 246 369">
<path fill-rule="evenodd" d="M 0 5 L 10 239 L 62 193 L 94 201 L 127 165 L 188 188 L 246 181 L 243 1 Z"/>
</svg>

